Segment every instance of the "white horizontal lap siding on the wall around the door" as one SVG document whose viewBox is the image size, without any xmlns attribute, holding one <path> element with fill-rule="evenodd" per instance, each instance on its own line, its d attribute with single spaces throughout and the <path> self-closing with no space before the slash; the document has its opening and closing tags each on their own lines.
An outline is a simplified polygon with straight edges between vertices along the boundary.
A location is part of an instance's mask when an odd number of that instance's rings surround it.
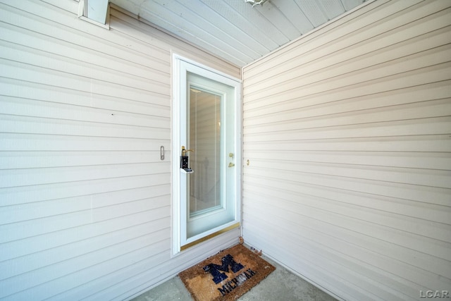
<svg viewBox="0 0 451 301">
<path fill-rule="evenodd" d="M 0 300 L 127 299 L 239 235 L 171 259 L 171 51 L 240 70 L 77 10 L 0 3 Z"/>
</svg>

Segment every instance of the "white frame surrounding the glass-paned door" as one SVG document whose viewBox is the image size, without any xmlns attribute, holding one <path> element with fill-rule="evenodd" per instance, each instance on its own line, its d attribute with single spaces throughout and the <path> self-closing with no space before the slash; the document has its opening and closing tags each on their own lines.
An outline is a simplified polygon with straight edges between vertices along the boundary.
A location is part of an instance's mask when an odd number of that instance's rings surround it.
<svg viewBox="0 0 451 301">
<path fill-rule="evenodd" d="M 211 229 L 211 231 L 207 231 L 204 235 L 205 240 L 211 238 L 214 235 L 218 235 L 223 233 L 224 231 L 228 231 L 232 228 L 235 228 L 237 225 L 241 224 L 241 173 L 242 173 L 242 98 L 241 98 L 241 89 L 242 89 L 242 81 L 238 78 L 234 78 L 226 73 L 222 73 L 221 71 L 215 70 L 214 68 L 210 68 L 208 66 L 204 66 L 201 63 L 197 63 L 190 59 L 187 59 L 178 54 L 173 54 L 172 57 L 172 99 L 171 99 L 171 125 L 172 125 L 172 133 L 171 133 L 171 180 L 172 180 L 172 194 L 171 194 L 171 203 L 172 203 L 172 240 L 171 240 L 171 256 L 175 256 L 180 254 L 181 252 L 181 243 L 180 243 L 180 124 L 181 118 L 180 115 L 180 97 L 181 91 L 186 91 L 186 73 L 187 71 L 199 74 L 199 70 L 202 70 L 202 76 L 209 78 L 211 80 L 216 80 L 218 82 L 224 82 L 227 80 L 228 83 L 233 83 L 235 85 L 235 221 L 233 223 L 226 223 L 222 227 L 216 227 Z M 205 76 L 208 75 L 208 76 Z M 227 82 L 225 82 L 227 84 Z M 202 242 L 204 239 L 200 239 L 199 242 Z M 193 244 L 194 245 L 194 244 Z"/>
</svg>

